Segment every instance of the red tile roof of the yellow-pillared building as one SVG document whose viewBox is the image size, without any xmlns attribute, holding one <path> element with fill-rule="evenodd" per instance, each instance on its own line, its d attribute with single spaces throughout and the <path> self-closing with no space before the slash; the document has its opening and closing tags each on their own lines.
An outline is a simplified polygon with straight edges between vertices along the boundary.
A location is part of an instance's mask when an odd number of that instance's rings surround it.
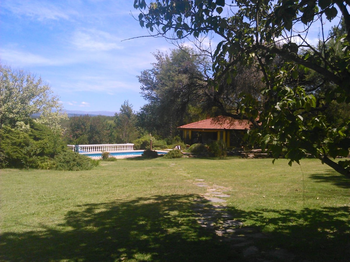
<svg viewBox="0 0 350 262">
<path fill-rule="evenodd" d="M 235 119 L 229 116 L 218 116 L 202 121 L 179 126 L 180 129 L 250 129 L 251 122 L 245 119 Z"/>
</svg>

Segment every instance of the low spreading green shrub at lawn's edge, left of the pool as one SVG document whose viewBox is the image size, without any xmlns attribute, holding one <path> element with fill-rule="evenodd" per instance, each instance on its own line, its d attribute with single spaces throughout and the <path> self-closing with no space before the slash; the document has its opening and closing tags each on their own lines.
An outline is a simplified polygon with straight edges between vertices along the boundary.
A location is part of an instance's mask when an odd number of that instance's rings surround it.
<svg viewBox="0 0 350 262">
<path fill-rule="evenodd" d="M 99 161 L 93 160 L 86 155 L 67 150 L 55 156 L 52 160 L 52 169 L 64 171 L 90 170 L 99 165 Z"/>
</svg>

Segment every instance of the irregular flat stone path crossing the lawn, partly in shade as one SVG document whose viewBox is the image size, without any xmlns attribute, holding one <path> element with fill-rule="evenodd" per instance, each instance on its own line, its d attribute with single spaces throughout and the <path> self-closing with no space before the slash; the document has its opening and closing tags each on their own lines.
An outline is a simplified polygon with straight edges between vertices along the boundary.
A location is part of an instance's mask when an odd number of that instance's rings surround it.
<svg viewBox="0 0 350 262">
<path fill-rule="evenodd" d="M 171 166 L 174 166 L 173 164 Z M 185 176 L 182 169 L 177 173 Z M 252 227 L 245 227 L 243 222 L 235 220 L 227 212 L 226 199 L 230 197 L 231 188 L 207 183 L 204 179 L 189 180 L 197 187 L 207 188 L 207 192 L 195 199 L 194 211 L 197 222 L 205 229 L 211 230 L 222 241 L 230 241 L 231 247 L 251 261 L 293 261 L 295 256 L 285 249 L 262 251 L 254 246 L 258 239 L 268 239 L 268 236 Z"/>
</svg>

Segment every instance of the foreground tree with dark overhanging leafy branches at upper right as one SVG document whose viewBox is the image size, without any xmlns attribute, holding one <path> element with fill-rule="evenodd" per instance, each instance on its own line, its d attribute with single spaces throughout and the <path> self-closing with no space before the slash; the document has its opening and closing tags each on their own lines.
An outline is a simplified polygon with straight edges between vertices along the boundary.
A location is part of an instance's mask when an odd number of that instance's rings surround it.
<svg viewBox="0 0 350 262">
<path fill-rule="evenodd" d="M 349 118 L 334 127 L 325 112 L 332 103 L 350 101 L 349 5 L 349 0 L 134 1 L 140 25 L 155 36 L 188 38 L 203 50 L 203 39 L 215 36 L 208 82 L 214 88 L 223 79 L 230 83 L 241 65 L 263 75 L 264 100 L 242 95 L 238 114 L 228 114 L 255 124 L 253 140 L 275 158 L 284 154 L 290 164 L 309 153 L 347 177 L 350 161 L 331 158 L 349 154 Z M 325 22 L 334 30 L 325 30 Z M 308 40 L 315 29 L 317 46 Z M 304 81 L 309 72 L 317 74 L 313 88 Z"/>
</svg>

